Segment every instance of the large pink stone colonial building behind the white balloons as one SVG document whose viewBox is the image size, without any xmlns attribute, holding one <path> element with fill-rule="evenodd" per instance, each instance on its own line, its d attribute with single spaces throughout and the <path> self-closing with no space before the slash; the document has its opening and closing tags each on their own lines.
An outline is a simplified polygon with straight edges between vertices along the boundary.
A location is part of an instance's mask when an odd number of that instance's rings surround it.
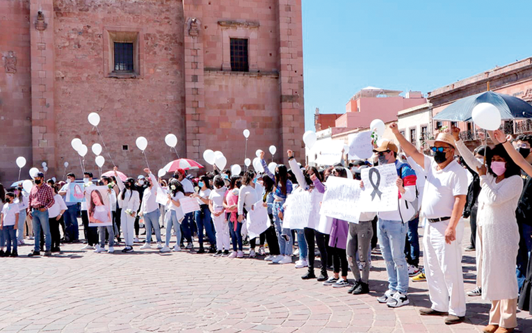
<svg viewBox="0 0 532 333">
<path fill-rule="evenodd" d="M 145 136 L 153 169 L 177 153 L 229 164 L 275 145 L 303 154 L 300 0 L 0 0 L 0 181 L 17 179 L 17 156 L 48 175 L 81 172 L 70 146 L 105 140 L 104 170 L 138 174 Z M 98 129 L 88 123 L 100 115 Z M 279 154 L 284 157 L 284 154 Z M 23 177 L 23 178 L 24 178 Z"/>
</svg>

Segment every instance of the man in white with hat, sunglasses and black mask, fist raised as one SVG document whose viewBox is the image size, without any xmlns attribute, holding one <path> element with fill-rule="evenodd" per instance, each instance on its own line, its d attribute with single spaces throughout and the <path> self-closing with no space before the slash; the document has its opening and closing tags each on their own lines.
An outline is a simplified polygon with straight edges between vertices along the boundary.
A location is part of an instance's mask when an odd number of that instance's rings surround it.
<svg viewBox="0 0 532 333">
<path fill-rule="evenodd" d="M 417 151 L 390 125 L 403 150 L 426 172 L 421 211 L 428 224 L 424 235 L 425 274 L 432 307 L 420 309 L 422 316 L 444 316 L 447 325 L 465 320 L 465 291 L 462 276 L 463 223 L 467 195 L 466 171 L 455 161 L 453 136 L 440 133 L 432 143 L 434 156 Z"/>
</svg>

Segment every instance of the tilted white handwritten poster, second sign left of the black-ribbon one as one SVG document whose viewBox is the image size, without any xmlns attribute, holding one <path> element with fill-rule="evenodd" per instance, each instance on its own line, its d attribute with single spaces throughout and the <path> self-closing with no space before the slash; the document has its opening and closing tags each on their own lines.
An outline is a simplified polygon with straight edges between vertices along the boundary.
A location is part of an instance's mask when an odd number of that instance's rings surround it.
<svg viewBox="0 0 532 333">
<path fill-rule="evenodd" d="M 310 193 L 306 190 L 292 193 L 287 197 L 284 209 L 283 229 L 303 229 L 309 224 Z"/>
</svg>

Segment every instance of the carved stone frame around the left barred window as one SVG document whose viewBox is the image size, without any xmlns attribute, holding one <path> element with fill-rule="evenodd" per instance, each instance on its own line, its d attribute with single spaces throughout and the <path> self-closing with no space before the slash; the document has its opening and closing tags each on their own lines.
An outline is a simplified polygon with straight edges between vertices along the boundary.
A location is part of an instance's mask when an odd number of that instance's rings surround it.
<svg viewBox="0 0 532 333">
<path fill-rule="evenodd" d="M 144 33 L 138 27 L 104 27 L 104 76 L 114 79 L 142 79 L 144 77 Z M 115 42 L 133 43 L 133 72 L 114 72 Z"/>
</svg>

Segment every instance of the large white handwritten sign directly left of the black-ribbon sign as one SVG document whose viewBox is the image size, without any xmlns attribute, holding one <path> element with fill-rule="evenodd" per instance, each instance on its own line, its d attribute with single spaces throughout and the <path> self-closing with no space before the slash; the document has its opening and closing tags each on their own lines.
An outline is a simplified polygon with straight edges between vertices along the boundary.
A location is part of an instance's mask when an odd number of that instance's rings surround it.
<svg viewBox="0 0 532 333">
<path fill-rule="evenodd" d="M 325 183 L 320 214 L 358 223 L 360 217 L 360 181 L 341 177 L 329 177 Z"/>
</svg>

